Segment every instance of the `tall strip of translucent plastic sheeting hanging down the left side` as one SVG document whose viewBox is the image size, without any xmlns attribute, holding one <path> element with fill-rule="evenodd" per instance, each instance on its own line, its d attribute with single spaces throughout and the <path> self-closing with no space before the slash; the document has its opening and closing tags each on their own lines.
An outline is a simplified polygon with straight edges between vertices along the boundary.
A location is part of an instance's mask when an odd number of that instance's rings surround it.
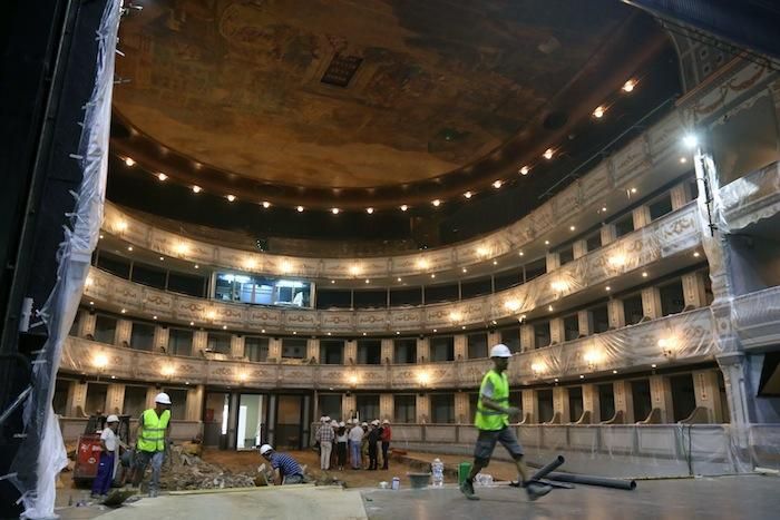
<svg viewBox="0 0 780 520">
<path fill-rule="evenodd" d="M 108 138 L 114 86 L 114 60 L 120 0 L 107 2 L 97 32 L 95 88 L 85 105 L 79 149 L 74 157 L 84 173 L 65 239 L 57 253 L 57 283 L 39 313 L 48 340 L 33 361 L 32 387 L 23 402 L 22 444 L 6 475 L 21 492 L 25 518 L 53 517 L 57 474 L 67 464 L 59 423 L 51 408 L 55 377 L 65 340 L 78 310 L 91 253 L 97 244 L 108 167 Z M 35 471 L 31 469 L 35 468 Z"/>
</svg>

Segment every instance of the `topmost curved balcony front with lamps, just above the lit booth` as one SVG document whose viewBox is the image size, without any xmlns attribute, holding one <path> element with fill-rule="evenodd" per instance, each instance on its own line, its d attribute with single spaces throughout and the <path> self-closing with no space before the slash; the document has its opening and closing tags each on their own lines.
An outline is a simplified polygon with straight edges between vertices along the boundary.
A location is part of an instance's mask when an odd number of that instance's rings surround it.
<svg viewBox="0 0 780 520">
<path fill-rule="evenodd" d="M 614 198 L 628 183 L 645 176 L 653 165 L 659 165 L 670 156 L 677 146 L 671 136 L 679 136 L 681 128 L 680 116 L 673 112 L 649 129 L 646 135 L 631 141 L 613 157 L 604 159 L 591 173 L 520 220 L 468 243 L 423 253 L 372 258 L 309 258 L 261 254 L 213 245 L 156 228 L 110 203 L 106 203 L 103 228 L 133 245 L 165 256 L 276 276 L 350 279 L 455 272 L 464 266 L 513 254 L 564 220 L 582 218 L 583 222 L 595 223 L 595 217 L 588 213 L 589 206 Z M 682 171 L 680 166 L 664 168 L 653 174 L 657 177 L 654 181 L 671 180 Z"/>
</svg>

